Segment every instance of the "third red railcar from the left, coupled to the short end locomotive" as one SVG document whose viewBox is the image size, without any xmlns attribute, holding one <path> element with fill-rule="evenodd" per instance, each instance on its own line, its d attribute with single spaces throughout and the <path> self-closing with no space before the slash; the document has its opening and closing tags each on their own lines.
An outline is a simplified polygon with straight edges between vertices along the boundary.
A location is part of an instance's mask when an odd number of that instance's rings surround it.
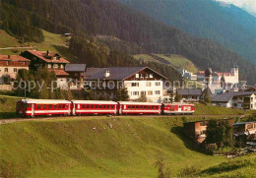
<svg viewBox="0 0 256 178">
<path fill-rule="evenodd" d="M 119 114 L 160 114 L 160 103 L 118 102 Z"/>
</svg>

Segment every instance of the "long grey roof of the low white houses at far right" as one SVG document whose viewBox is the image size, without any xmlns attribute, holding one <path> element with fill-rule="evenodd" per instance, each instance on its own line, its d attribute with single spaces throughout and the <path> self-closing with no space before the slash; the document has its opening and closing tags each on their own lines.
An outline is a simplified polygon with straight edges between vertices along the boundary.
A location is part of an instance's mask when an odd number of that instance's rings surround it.
<svg viewBox="0 0 256 178">
<path fill-rule="evenodd" d="M 251 95 L 254 91 L 229 91 L 222 94 L 210 94 L 213 102 L 228 102 L 233 96 Z"/>
</svg>

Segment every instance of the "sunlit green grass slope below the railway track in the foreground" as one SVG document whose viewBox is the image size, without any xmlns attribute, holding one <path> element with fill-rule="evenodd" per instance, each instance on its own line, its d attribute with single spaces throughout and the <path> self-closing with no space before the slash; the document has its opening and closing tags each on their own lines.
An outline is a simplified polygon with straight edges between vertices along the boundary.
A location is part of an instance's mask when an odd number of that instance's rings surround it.
<svg viewBox="0 0 256 178">
<path fill-rule="evenodd" d="M 160 154 L 175 177 L 186 166 L 204 170 L 225 161 L 192 150 L 181 126 L 181 118 L 167 117 L 0 125 L 0 177 L 157 177 Z"/>
</svg>

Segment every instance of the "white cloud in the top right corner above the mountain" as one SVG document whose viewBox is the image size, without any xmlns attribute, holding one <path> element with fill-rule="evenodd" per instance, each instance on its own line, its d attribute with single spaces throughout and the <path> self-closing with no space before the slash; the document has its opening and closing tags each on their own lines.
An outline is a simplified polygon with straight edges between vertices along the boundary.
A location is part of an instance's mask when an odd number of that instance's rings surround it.
<svg viewBox="0 0 256 178">
<path fill-rule="evenodd" d="M 216 0 L 226 4 L 233 4 L 252 14 L 256 14 L 256 0 Z"/>
</svg>

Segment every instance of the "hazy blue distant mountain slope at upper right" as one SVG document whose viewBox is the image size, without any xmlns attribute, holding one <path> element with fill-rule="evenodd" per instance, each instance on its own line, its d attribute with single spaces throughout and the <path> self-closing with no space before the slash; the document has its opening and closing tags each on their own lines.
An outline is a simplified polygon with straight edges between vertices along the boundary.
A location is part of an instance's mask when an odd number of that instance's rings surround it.
<svg viewBox="0 0 256 178">
<path fill-rule="evenodd" d="M 167 25 L 211 38 L 256 63 L 256 17 L 214 0 L 119 0 Z"/>
</svg>

